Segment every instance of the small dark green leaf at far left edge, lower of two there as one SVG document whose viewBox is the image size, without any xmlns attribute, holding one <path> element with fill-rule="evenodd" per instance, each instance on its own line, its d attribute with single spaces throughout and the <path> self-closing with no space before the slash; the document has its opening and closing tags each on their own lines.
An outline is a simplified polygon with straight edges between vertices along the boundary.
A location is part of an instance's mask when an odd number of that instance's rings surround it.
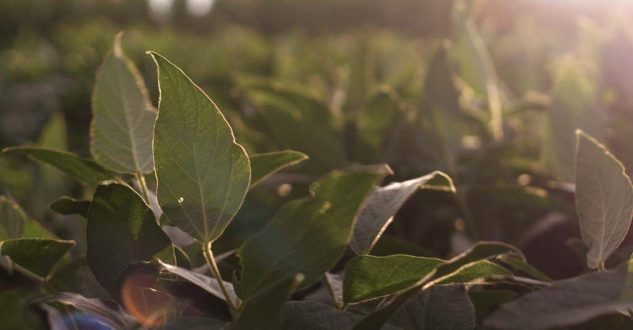
<svg viewBox="0 0 633 330">
<path fill-rule="evenodd" d="M 0 243 L 0 255 L 10 257 L 21 269 L 44 279 L 74 245 L 74 241 L 44 238 L 10 239 Z"/>
</svg>

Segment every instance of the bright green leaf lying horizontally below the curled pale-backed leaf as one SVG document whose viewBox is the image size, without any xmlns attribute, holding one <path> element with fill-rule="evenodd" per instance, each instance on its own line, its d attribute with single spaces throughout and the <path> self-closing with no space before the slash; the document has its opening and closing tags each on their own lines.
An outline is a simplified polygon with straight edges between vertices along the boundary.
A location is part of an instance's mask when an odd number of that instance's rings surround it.
<svg viewBox="0 0 633 330">
<path fill-rule="evenodd" d="M 357 303 L 407 289 L 443 263 L 436 258 L 404 254 L 355 257 L 345 268 L 343 300 Z"/>
</svg>

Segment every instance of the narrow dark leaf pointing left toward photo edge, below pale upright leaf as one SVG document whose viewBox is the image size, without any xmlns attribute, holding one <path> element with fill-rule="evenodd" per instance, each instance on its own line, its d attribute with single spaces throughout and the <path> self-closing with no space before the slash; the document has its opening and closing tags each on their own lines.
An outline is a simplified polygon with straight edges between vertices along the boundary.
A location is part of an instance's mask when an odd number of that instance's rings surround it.
<svg viewBox="0 0 633 330">
<path fill-rule="evenodd" d="M 70 175 L 75 180 L 92 188 L 114 176 L 92 160 L 81 158 L 75 154 L 37 147 L 5 148 L 5 154 L 21 154 L 51 165 Z"/>
</svg>

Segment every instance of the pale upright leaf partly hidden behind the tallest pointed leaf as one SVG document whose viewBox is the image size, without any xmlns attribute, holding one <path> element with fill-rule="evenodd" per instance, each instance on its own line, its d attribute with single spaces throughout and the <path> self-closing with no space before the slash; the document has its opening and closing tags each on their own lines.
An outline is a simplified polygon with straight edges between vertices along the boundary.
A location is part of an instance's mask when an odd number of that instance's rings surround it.
<svg viewBox="0 0 633 330">
<path fill-rule="evenodd" d="M 154 171 L 152 134 L 156 109 L 140 73 L 123 53 L 117 34 L 97 73 L 92 93 L 90 151 L 103 167 L 118 173 Z"/>
</svg>

